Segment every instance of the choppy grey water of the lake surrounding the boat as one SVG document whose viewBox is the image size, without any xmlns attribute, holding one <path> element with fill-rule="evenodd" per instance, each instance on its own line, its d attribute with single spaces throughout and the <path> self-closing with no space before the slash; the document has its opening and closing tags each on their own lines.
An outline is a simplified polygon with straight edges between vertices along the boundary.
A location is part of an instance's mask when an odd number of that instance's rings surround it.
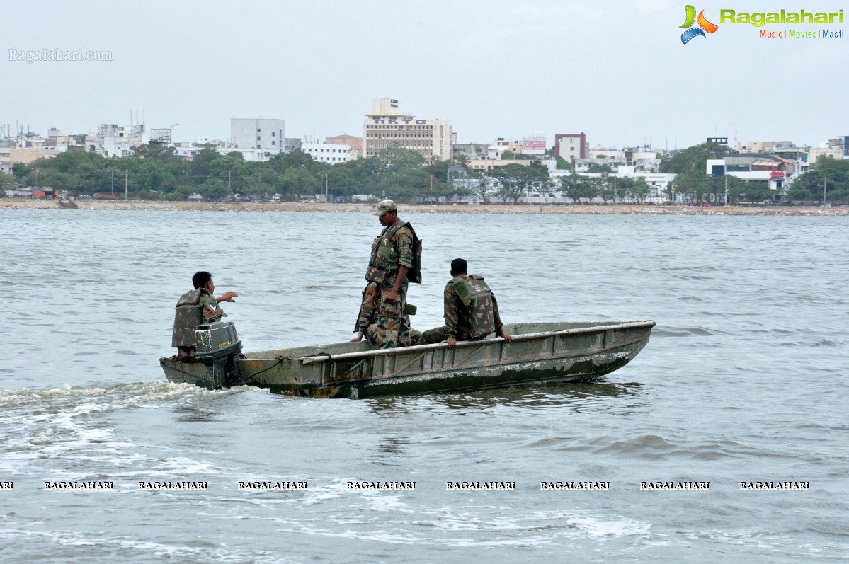
<svg viewBox="0 0 849 564">
<path fill-rule="evenodd" d="M 374 216 L 0 210 L 0 482 L 14 482 L 0 489 L 0 560 L 849 559 L 849 218 L 402 217 L 424 239 L 415 327 L 441 324 L 464 256 L 504 321 L 655 319 L 652 340 L 592 384 L 210 392 L 158 365 L 194 271 L 241 294 L 225 309 L 245 349 L 350 338 Z M 115 490 L 44 489 L 62 480 Z M 138 489 L 156 480 L 209 488 Z M 446 489 L 478 480 L 516 489 Z M 711 485 L 639 489 L 679 480 Z"/>
</svg>

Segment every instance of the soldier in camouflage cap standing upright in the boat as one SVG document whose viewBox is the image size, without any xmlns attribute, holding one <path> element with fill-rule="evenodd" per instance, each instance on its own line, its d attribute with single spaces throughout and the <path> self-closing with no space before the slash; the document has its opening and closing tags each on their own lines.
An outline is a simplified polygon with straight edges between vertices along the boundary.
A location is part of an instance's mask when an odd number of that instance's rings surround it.
<svg viewBox="0 0 849 564">
<path fill-rule="evenodd" d="M 413 282 L 421 282 L 417 253 L 420 245 L 413 228 L 398 219 L 398 208 L 392 200 L 377 204 L 374 215 L 384 230 L 374 237 L 366 269 L 366 280 L 375 282 L 380 290 L 380 303 L 375 322 L 368 326 L 368 338 L 380 349 L 392 349 L 410 342 L 404 311 L 408 275 L 413 275 L 409 276 Z"/>
</svg>

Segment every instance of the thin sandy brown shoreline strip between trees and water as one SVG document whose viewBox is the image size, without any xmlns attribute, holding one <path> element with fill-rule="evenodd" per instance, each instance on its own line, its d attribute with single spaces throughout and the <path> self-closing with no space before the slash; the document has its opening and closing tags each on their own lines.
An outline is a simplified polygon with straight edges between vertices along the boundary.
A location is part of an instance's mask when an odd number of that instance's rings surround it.
<svg viewBox="0 0 849 564">
<path fill-rule="evenodd" d="M 155 211 L 286 211 L 368 213 L 373 204 L 302 204 L 267 202 L 230 204 L 222 202 L 155 202 L 121 200 L 104 202 L 75 200 L 79 209 L 155 210 Z M 0 198 L 0 209 L 60 209 L 50 200 Z M 568 214 L 568 215 L 849 215 L 849 206 L 692 206 L 692 205 L 539 205 L 539 204 L 400 204 L 400 213 L 465 213 L 465 214 Z M 66 209 L 73 213 L 73 209 Z"/>
</svg>

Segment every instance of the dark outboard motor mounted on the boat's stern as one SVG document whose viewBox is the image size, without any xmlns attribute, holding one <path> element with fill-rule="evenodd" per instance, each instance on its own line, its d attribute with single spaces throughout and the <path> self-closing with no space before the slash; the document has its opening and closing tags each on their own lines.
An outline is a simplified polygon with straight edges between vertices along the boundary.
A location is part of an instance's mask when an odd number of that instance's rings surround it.
<svg viewBox="0 0 849 564">
<path fill-rule="evenodd" d="M 194 357 L 205 364 L 210 389 L 238 385 L 239 365 L 236 360 L 242 353 L 242 342 L 236 327 L 230 321 L 205 323 L 194 330 L 197 352 Z"/>
</svg>

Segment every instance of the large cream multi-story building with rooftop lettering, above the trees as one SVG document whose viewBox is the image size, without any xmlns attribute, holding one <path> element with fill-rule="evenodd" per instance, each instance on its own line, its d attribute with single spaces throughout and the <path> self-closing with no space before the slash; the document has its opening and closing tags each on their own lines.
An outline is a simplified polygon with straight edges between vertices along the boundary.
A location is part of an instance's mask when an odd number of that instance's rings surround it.
<svg viewBox="0 0 849 564">
<path fill-rule="evenodd" d="M 453 131 L 448 120 L 419 120 L 402 114 L 394 98 L 377 98 L 363 123 L 363 157 L 374 157 L 391 143 L 413 149 L 425 159 L 452 158 Z"/>
</svg>

